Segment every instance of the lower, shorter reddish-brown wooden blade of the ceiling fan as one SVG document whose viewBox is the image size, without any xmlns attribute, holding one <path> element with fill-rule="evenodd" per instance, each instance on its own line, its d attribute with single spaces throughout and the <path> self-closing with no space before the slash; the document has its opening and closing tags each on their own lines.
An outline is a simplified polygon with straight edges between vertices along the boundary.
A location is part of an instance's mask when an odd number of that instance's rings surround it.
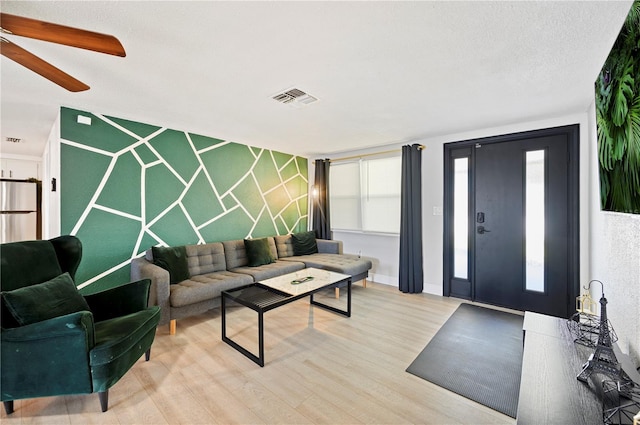
<svg viewBox="0 0 640 425">
<path fill-rule="evenodd" d="M 5 56 L 25 68 L 42 75 L 47 80 L 50 80 L 69 91 L 79 92 L 89 90 L 89 86 L 82 81 L 73 78 L 66 72 L 56 68 L 49 62 L 40 59 L 33 53 L 10 42 L 4 37 L 2 37 L 0 43 L 0 53 L 2 53 L 2 56 Z"/>
</svg>

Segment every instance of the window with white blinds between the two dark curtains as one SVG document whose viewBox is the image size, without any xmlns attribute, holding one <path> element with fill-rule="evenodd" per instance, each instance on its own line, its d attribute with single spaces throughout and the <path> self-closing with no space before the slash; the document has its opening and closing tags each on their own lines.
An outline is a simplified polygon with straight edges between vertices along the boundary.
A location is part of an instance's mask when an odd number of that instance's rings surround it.
<svg viewBox="0 0 640 425">
<path fill-rule="evenodd" d="M 400 232 L 400 156 L 331 164 L 331 227 Z"/>
</svg>

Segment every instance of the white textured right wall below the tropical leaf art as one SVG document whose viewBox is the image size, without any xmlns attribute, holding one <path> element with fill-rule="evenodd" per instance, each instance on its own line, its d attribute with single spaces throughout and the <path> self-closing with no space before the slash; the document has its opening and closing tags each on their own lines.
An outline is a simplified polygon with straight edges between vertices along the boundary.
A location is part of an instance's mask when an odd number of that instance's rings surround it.
<svg viewBox="0 0 640 425">
<path fill-rule="evenodd" d="M 589 278 L 584 282 L 596 279 L 604 284 L 607 316 L 618 335 L 618 346 L 640 365 L 640 215 L 600 209 L 595 105 L 589 119 L 591 250 Z M 594 285 L 591 294 L 599 300 L 600 285 Z"/>
</svg>

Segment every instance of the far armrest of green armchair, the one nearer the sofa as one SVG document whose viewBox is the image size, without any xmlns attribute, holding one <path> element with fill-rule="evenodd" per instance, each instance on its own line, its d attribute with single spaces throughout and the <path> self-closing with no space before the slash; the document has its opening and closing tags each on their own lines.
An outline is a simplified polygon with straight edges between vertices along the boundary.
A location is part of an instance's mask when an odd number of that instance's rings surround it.
<svg viewBox="0 0 640 425">
<path fill-rule="evenodd" d="M 84 295 L 84 299 L 91 308 L 94 320 L 101 322 L 146 309 L 150 285 L 149 279 L 142 279 Z"/>
</svg>

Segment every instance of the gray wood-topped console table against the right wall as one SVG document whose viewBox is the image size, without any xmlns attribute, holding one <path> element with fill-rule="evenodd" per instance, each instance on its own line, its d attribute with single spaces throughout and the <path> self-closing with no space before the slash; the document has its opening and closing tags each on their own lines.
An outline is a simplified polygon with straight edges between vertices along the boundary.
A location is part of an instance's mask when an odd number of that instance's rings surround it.
<svg viewBox="0 0 640 425">
<path fill-rule="evenodd" d="M 517 424 L 602 425 L 599 389 L 591 380 L 587 386 L 576 379 L 593 349 L 573 342 L 565 319 L 538 313 L 525 313 L 523 336 Z M 628 356 L 616 346 L 614 351 L 623 369 L 640 382 Z"/>
</svg>

